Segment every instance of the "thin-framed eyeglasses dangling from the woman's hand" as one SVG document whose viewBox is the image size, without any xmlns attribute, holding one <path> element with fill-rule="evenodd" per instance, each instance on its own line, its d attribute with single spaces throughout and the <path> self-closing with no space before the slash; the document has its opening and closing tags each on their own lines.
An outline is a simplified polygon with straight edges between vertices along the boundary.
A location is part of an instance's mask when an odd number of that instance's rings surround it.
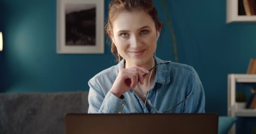
<svg viewBox="0 0 256 134">
<path fill-rule="evenodd" d="M 171 62 L 171 61 L 161 62 L 161 63 L 155 65 L 155 67 L 159 66 L 160 64 L 167 64 L 167 63 L 170 63 L 170 62 Z M 152 71 L 155 67 L 152 67 L 152 68 L 149 70 L 149 72 Z M 146 74 L 143 74 L 143 76 L 145 76 L 145 75 L 146 75 Z M 186 101 L 186 100 L 193 94 L 193 93 L 190 93 L 184 100 L 182 100 L 181 102 L 177 103 L 177 104 L 174 105 L 173 107 L 167 109 L 166 111 L 164 111 L 164 112 L 159 112 L 159 111 L 157 111 L 157 109 L 153 106 L 153 104 L 152 104 L 151 101 L 147 98 L 147 96 L 144 95 L 144 93 L 143 93 L 142 90 L 141 90 L 141 87 L 139 86 L 139 82 L 137 83 L 137 86 L 138 86 L 138 88 L 139 88 L 139 91 L 140 91 L 141 95 L 143 95 L 143 97 L 146 99 L 146 102 L 149 104 L 149 106 L 150 106 L 156 113 L 166 113 L 166 112 L 170 111 L 171 109 L 175 108 L 175 107 L 178 106 L 179 104 L 181 104 L 181 103 L 183 103 L 184 101 Z"/>
</svg>

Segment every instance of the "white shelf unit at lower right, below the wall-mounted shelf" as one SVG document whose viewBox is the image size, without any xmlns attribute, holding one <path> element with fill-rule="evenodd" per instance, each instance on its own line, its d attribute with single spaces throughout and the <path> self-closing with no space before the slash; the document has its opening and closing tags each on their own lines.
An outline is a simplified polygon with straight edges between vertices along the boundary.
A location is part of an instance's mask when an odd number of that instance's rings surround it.
<svg viewBox="0 0 256 134">
<path fill-rule="evenodd" d="M 228 116 L 230 117 L 256 117 L 256 109 L 236 109 L 235 108 L 235 93 L 236 93 L 236 83 L 246 82 L 246 83 L 256 83 L 256 75 L 251 74 L 229 74 L 228 75 L 228 85 L 227 85 L 227 105 L 228 105 Z M 229 131 L 229 134 L 235 134 L 235 124 Z"/>
</svg>

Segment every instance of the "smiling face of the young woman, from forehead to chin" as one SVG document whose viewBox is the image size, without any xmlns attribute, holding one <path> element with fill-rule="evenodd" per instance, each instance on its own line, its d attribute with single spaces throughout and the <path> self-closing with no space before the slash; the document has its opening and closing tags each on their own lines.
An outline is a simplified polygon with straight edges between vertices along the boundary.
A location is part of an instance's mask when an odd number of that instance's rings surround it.
<svg viewBox="0 0 256 134">
<path fill-rule="evenodd" d="M 117 15 L 112 24 L 112 40 L 126 62 L 143 65 L 152 60 L 157 46 L 157 31 L 147 13 L 125 11 Z"/>
</svg>

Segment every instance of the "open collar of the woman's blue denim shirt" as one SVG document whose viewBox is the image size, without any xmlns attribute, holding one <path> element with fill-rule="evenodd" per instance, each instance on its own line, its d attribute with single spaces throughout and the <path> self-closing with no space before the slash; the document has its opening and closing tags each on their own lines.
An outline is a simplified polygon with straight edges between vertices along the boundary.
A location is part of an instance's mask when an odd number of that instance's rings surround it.
<svg viewBox="0 0 256 134">
<path fill-rule="evenodd" d="M 155 57 L 155 64 L 159 64 L 161 62 L 164 62 L 164 61 L 162 59 L 159 59 L 158 57 Z M 121 68 L 124 68 L 124 63 L 125 63 L 125 59 L 122 59 L 117 64 L 118 72 L 119 72 L 119 65 Z M 161 84 L 167 84 L 170 82 L 170 73 L 169 73 L 167 64 L 161 64 L 156 67 L 155 82 L 161 83 Z"/>
</svg>

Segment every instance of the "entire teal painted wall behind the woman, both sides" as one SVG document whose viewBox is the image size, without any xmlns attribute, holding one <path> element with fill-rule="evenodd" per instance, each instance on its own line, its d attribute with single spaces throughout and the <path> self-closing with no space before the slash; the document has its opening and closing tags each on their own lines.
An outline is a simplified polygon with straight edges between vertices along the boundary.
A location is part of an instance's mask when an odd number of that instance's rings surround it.
<svg viewBox="0 0 256 134">
<path fill-rule="evenodd" d="M 206 112 L 227 115 L 227 74 L 245 73 L 249 59 L 256 57 L 256 23 L 226 24 L 226 0 L 166 1 L 179 62 L 198 72 Z M 163 6 L 154 2 L 165 24 L 156 55 L 173 60 Z M 104 54 L 56 54 L 55 0 L 1 0 L 0 7 L 3 93 L 88 90 L 91 77 L 115 64 L 108 44 Z"/>
</svg>

